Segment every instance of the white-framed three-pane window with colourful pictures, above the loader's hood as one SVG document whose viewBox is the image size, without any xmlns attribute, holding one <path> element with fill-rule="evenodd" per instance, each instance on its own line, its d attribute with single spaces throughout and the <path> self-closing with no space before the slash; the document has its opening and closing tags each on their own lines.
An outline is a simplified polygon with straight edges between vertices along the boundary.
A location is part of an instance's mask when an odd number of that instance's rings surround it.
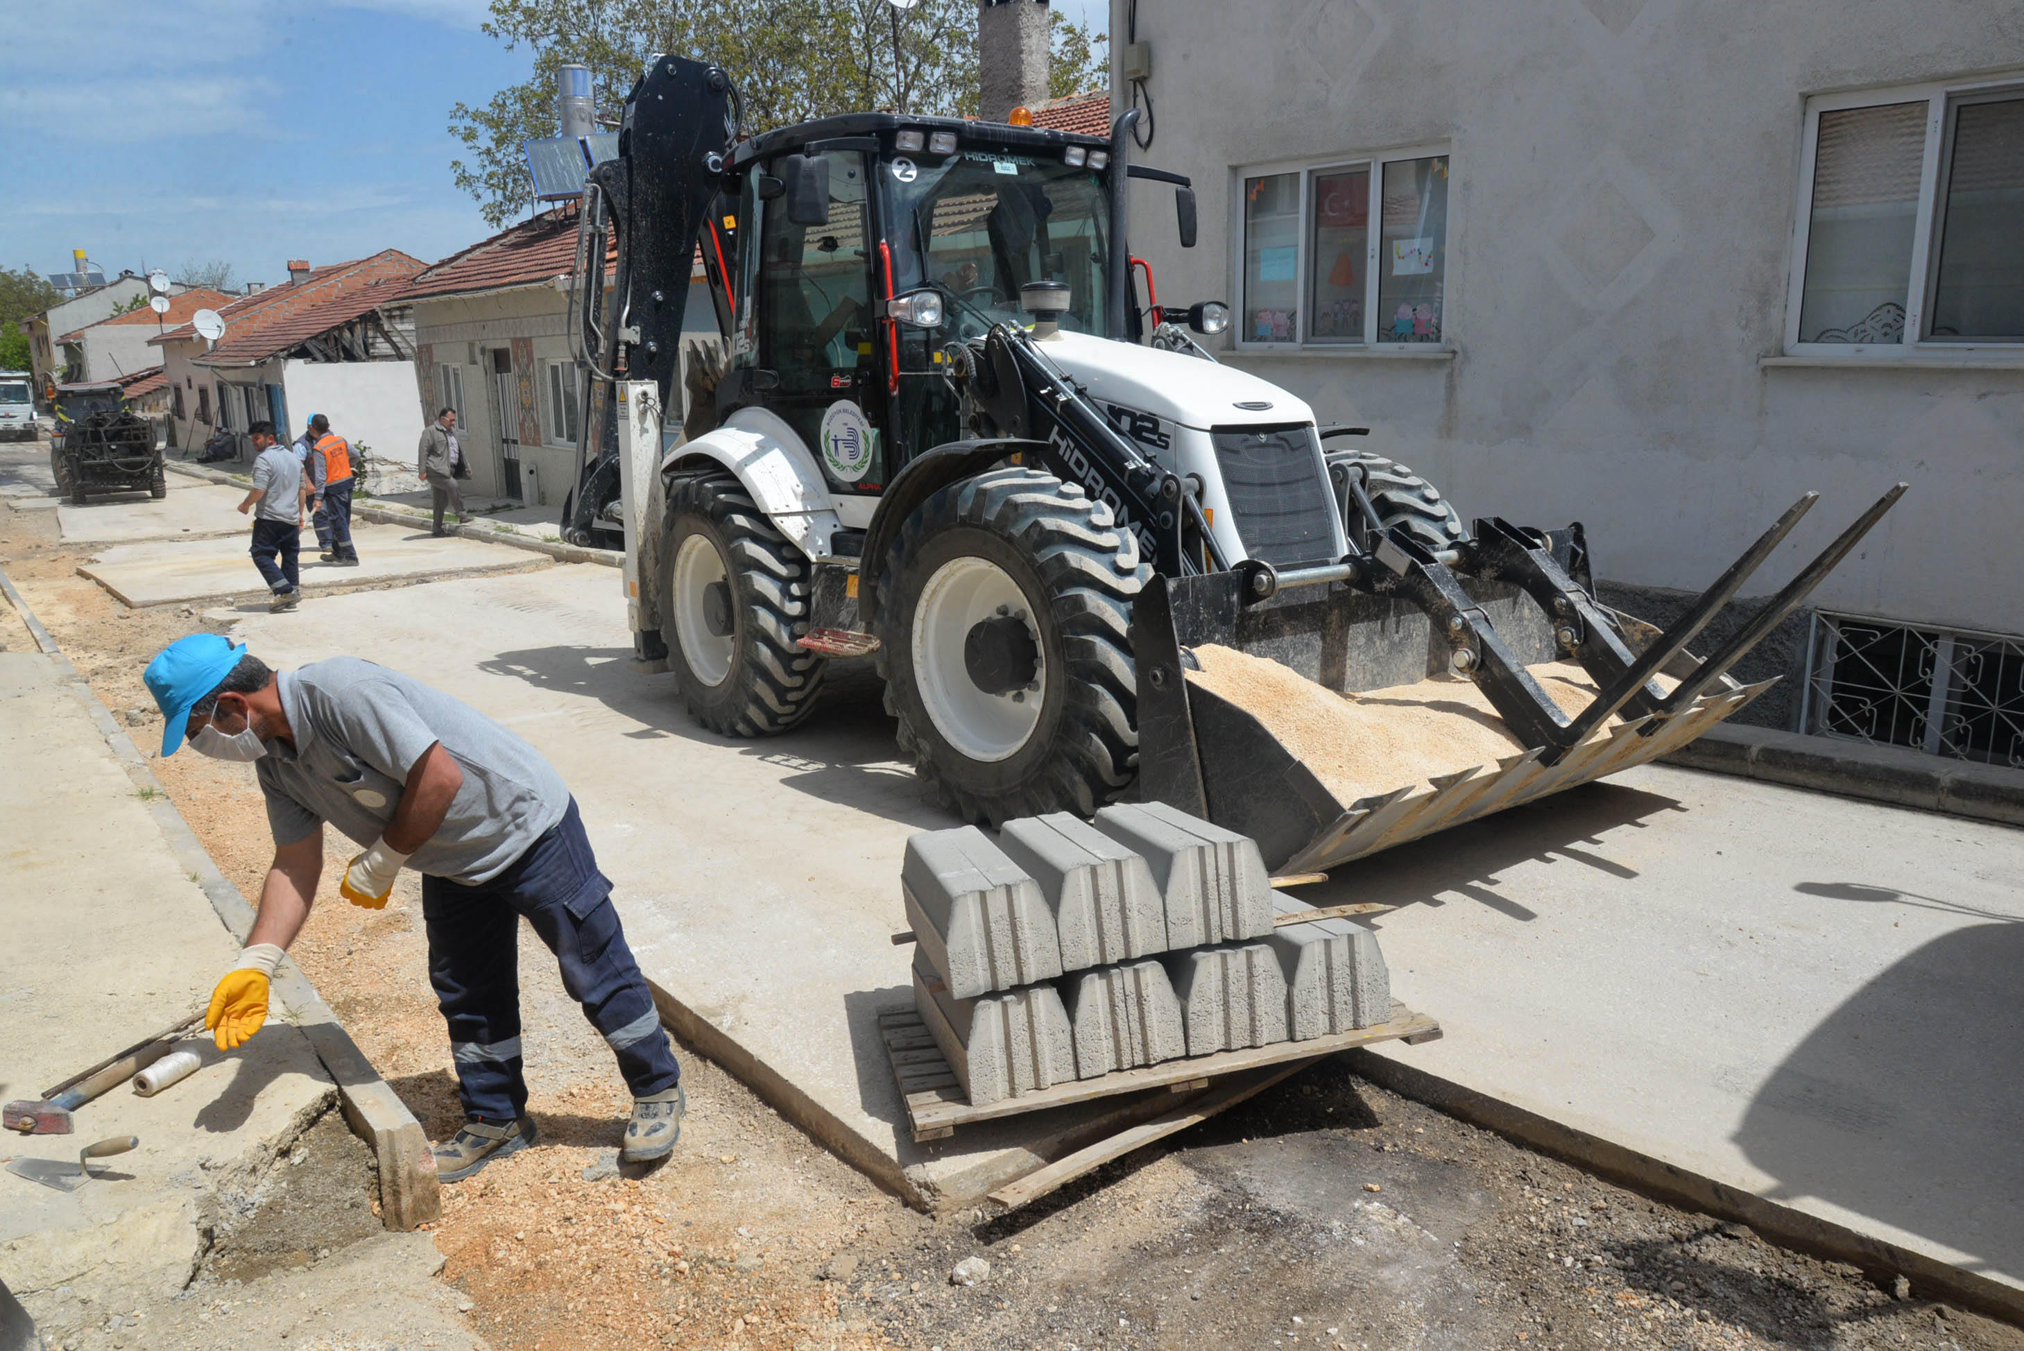
<svg viewBox="0 0 2024 1351">
<path fill-rule="evenodd" d="M 1443 340 L 1445 150 L 1241 174 L 1237 344 Z"/>
</svg>

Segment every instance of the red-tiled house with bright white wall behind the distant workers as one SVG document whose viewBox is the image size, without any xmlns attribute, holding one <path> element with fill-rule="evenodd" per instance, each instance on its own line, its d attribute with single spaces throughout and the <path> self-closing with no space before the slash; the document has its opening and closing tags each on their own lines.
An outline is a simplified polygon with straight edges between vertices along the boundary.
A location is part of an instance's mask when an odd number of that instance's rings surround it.
<svg viewBox="0 0 2024 1351">
<path fill-rule="evenodd" d="M 293 437 L 322 413 L 366 455 L 411 465 L 421 421 L 413 318 L 399 295 L 421 267 L 399 249 L 318 269 L 291 265 L 285 285 L 219 309 L 217 342 L 188 324 L 152 338 L 178 445 L 227 431 L 245 459 L 253 423 L 271 421 Z"/>
</svg>

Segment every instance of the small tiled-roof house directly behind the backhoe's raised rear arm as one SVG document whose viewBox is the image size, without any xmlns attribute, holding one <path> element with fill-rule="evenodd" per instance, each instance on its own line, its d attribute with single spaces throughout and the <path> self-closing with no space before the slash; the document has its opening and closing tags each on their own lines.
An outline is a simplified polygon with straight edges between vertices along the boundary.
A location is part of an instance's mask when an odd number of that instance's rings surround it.
<svg viewBox="0 0 2024 1351">
<path fill-rule="evenodd" d="M 403 301 L 415 309 L 419 407 L 457 411 L 472 465 L 466 493 L 561 512 L 577 475 L 583 372 L 569 342 L 575 204 L 544 210 L 425 269 Z M 700 267 L 684 342 L 716 338 Z M 415 396 L 411 392 L 411 398 Z"/>
</svg>

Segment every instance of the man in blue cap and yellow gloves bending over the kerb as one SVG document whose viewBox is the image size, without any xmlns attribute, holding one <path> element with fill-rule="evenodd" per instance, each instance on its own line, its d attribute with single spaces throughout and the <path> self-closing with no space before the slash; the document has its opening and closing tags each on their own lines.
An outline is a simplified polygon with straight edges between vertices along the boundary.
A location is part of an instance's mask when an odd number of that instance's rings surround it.
<svg viewBox="0 0 2024 1351">
<path fill-rule="evenodd" d="M 443 1181 L 536 1139 L 520 1060 L 520 916 L 555 953 L 563 987 L 631 1088 L 619 1161 L 650 1163 L 674 1149 L 682 1070 L 577 801 L 540 752 L 470 704 L 358 657 L 273 671 L 243 645 L 196 633 L 164 647 L 146 682 L 166 718 L 164 756 L 190 744 L 251 760 L 267 799 L 275 849 L 259 916 L 204 1017 L 219 1050 L 267 1021 L 269 977 L 310 916 L 324 825 L 334 825 L 364 849 L 338 886 L 354 906 L 378 910 L 403 868 L 421 874 L 429 983 L 449 1023 L 466 1116 L 435 1147 Z"/>
</svg>

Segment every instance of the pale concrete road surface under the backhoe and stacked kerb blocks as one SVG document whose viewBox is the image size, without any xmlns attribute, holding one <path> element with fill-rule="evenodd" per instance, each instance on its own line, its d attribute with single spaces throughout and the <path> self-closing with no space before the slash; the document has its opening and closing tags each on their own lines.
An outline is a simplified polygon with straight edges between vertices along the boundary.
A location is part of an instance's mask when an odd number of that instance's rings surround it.
<svg viewBox="0 0 2024 1351">
<path fill-rule="evenodd" d="M 372 633 L 368 645 L 354 635 Z M 247 617 L 255 651 L 356 651 L 549 754 L 650 979 L 791 1116 L 927 1199 L 974 1199 L 1065 1116 L 913 1145 L 874 1013 L 905 1003 L 899 866 L 949 817 L 895 762 L 876 686 L 797 732 L 700 732 L 625 669 L 609 570 L 459 580 Z M 1399 900 L 1393 989 L 1443 1021 L 1403 1064 L 1682 1169 L 2024 1282 L 2024 833 L 1646 767 L 1342 872 Z M 2014 942 L 2016 940 L 2016 942 Z M 2008 965 L 2006 965 L 2008 963 Z"/>
</svg>

